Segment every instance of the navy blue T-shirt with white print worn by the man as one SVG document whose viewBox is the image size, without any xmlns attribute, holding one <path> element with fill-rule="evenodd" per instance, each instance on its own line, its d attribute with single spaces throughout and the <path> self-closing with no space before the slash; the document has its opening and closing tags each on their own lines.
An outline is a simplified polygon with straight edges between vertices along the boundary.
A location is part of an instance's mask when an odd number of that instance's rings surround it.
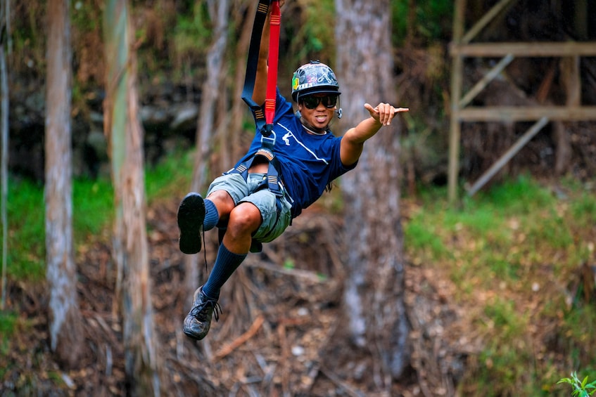
<svg viewBox="0 0 596 397">
<path fill-rule="evenodd" d="M 292 104 L 279 90 L 275 103 L 272 136 L 275 137 L 273 152 L 279 162 L 277 170 L 293 199 L 292 214 L 300 212 L 324 193 L 325 187 L 338 176 L 354 169 L 356 164 L 344 166 L 339 157 L 341 137 L 308 134 L 300 119 L 294 115 Z M 236 164 L 253 157 L 261 146 L 261 134 L 257 131 L 246 155 Z"/>
</svg>

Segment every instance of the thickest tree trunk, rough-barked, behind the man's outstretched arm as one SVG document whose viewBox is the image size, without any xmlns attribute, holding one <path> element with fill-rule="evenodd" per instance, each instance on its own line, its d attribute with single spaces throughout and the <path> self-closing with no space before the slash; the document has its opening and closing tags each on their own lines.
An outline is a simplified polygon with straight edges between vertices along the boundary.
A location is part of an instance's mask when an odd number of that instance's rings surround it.
<svg viewBox="0 0 596 397">
<path fill-rule="evenodd" d="M 343 98 L 343 130 L 369 116 L 365 102 L 398 105 L 389 9 L 388 0 L 336 0 L 336 71 Z M 367 141 L 357 168 L 341 180 L 345 238 L 350 247 L 345 315 L 352 341 L 371 349 L 383 371 L 381 387 L 386 389 L 409 363 L 398 125 L 395 119 Z"/>
</svg>

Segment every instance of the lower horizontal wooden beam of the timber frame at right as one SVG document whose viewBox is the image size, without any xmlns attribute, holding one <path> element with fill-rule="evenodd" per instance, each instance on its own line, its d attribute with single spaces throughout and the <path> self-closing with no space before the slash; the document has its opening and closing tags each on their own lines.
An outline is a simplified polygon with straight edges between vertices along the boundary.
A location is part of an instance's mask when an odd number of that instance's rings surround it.
<svg viewBox="0 0 596 397">
<path fill-rule="evenodd" d="M 596 120 L 596 106 L 490 106 L 459 110 L 462 122 L 531 122 L 542 117 L 562 122 Z"/>
</svg>

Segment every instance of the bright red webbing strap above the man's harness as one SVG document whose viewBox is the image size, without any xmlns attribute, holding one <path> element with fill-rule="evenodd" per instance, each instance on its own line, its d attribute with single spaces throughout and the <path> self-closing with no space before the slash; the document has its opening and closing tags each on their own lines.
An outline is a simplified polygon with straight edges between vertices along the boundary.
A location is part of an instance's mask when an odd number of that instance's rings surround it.
<svg viewBox="0 0 596 397">
<path fill-rule="evenodd" d="M 277 89 L 277 59 L 279 58 L 279 31 L 281 11 L 279 0 L 271 2 L 271 22 L 269 37 L 269 70 L 267 72 L 267 92 L 265 96 L 265 122 L 273 124 L 275 116 L 275 97 Z"/>
</svg>

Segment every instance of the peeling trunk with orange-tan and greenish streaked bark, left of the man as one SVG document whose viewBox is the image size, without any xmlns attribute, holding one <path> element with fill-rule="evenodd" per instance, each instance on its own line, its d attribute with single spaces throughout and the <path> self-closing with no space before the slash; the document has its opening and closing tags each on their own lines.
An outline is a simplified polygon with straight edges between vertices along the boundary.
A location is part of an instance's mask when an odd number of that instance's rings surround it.
<svg viewBox="0 0 596 397">
<path fill-rule="evenodd" d="M 128 395 L 158 396 L 158 344 L 151 306 L 144 190 L 143 129 L 137 117 L 137 60 L 127 1 L 110 0 L 104 14 L 106 136 L 114 184 L 113 251 L 122 280 L 122 338 Z"/>
</svg>

